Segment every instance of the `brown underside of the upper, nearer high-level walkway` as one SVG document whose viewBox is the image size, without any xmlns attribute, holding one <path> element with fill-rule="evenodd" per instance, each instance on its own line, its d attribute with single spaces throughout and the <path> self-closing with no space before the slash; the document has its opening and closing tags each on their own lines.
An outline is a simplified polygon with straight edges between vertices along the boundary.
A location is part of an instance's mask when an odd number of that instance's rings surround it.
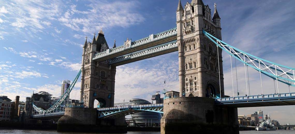
<svg viewBox="0 0 295 134">
<path fill-rule="evenodd" d="M 139 46 L 135 46 L 135 47 L 131 46 L 131 48 L 129 48 L 129 49 L 119 51 L 119 52 L 116 52 L 116 53 L 113 53 L 113 54 L 109 54 L 109 55 L 106 55 L 106 56 L 101 57 L 99 59 L 94 59 L 94 61 L 96 61 L 96 62 L 105 61 L 107 59 L 112 59 L 112 58 L 115 58 L 115 57 L 123 56 L 125 54 L 130 54 L 132 52 L 137 52 L 137 51 L 147 49 L 149 47 L 154 47 L 154 46 L 157 46 L 159 44 L 163 44 L 163 43 L 169 42 L 171 40 L 176 40 L 176 39 L 177 39 L 177 35 L 173 35 L 171 37 L 167 37 L 167 38 L 164 38 L 164 39 L 159 39 L 159 40 L 155 40 L 153 42 L 149 42 L 147 44 L 143 44 L 143 45 L 139 45 Z"/>
</svg>

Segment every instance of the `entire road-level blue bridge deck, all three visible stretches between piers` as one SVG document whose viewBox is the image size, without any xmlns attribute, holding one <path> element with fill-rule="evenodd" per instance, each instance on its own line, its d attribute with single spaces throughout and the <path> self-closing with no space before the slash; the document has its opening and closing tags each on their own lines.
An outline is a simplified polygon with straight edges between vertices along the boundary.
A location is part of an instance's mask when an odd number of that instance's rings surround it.
<svg viewBox="0 0 295 134">
<path fill-rule="evenodd" d="M 283 106 L 295 105 L 295 93 L 281 93 L 269 95 L 251 95 L 240 97 L 226 97 L 215 99 L 216 105 L 227 105 L 230 107 L 266 107 L 266 106 Z M 146 104 L 146 105 L 127 105 L 119 107 L 96 108 L 98 118 L 117 118 L 140 111 L 150 111 L 163 113 L 163 104 Z M 36 119 L 53 119 L 60 118 L 65 113 L 53 112 L 33 115 Z"/>
</svg>

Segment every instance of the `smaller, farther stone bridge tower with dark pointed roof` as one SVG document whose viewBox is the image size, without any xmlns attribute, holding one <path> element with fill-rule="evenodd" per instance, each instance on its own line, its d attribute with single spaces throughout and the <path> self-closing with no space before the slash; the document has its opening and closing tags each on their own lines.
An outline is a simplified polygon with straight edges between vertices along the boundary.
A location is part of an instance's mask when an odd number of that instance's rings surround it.
<svg viewBox="0 0 295 134">
<path fill-rule="evenodd" d="M 114 89 L 116 66 L 109 65 L 109 61 L 92 61 L 94 54 L 109 49 L 104 38 L 102 29 L 92 42 L 87 42 L 83 46 L 82 55 L 82 75 L 81 75 L 81 102 L 84 107 L 93 108 L 94 100 L 99 101 L 100 107 L 114 106 Z M 96 104 L 95 104 L 96 105 Z"/>
</svg>

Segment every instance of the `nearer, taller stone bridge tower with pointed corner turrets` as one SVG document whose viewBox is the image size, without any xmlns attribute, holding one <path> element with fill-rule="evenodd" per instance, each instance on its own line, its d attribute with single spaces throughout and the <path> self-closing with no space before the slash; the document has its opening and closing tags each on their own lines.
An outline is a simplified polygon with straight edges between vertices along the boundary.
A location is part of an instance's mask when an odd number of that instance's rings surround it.
<svg viewBox="0 0 295 134">
<path fill-rule="evenodd" d="M 219 97 L 220 89 L 224 96 L 222 49 L 202 32 L 204 29 L 221 39 L 220 17 L 214 7 L 213 18 L 211 9 L 202 0 L 187 2 L 184 9 L 179 1 L 176 9 L 179 90 L 185 97 Z"/>
</svg>

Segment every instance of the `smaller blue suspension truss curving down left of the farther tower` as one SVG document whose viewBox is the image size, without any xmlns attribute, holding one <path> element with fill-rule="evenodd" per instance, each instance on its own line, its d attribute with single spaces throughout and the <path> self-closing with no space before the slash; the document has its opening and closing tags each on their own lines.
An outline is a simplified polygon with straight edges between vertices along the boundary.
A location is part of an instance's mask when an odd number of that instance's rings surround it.
<svg viewBox="0 0 295 134">
<path fill-rule="evenodd" d="M 50 108 L 48 108 L 47 110 L 43 110 L 42 108 L 37 107 L 36 105 L 33 105 L 33 108 L 39 113 L 51 113 L 54 111 L 58 110 L 58 107 L 60 107 L 60 105 L 64 102 L 64 100 L 69 97 L 70 92 L 72 91 L 73 87 L 75 86 L 80 74 L 82 72 L 82 69 L 80 69 L 80 71 L 78 72 L 77 76 L 75 77 L 75 79 L 73 80 L 72 84 L 68 87 L 68 89 L 65 91 L 65 93 L 60 97 L 60 99 L 58 99 L 57 102 L 55 102 L 54 105 L 52 105 Z"/>
</svg>

